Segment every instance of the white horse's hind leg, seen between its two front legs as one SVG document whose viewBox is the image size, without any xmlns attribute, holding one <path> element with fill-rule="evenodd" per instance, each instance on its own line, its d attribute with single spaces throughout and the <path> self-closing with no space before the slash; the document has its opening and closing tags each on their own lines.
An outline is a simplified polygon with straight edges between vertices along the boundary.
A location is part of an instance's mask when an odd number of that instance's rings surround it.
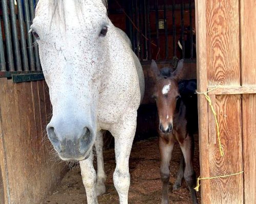
<svg viewBox="0 0 256 204">
<path fill-rule="evenodd" d="M 102 152 L 103 137 L 102 137 L 101 131 L 97 133 L 94 146 L 97 154 L 97 182 L 95 186 L 95 193 L 96 193 L 96 196 L 99 196 L 106 192 L 106 188 L 105 188 L 106 174 L 104 171 L 103 152 Z"/>
</svg>

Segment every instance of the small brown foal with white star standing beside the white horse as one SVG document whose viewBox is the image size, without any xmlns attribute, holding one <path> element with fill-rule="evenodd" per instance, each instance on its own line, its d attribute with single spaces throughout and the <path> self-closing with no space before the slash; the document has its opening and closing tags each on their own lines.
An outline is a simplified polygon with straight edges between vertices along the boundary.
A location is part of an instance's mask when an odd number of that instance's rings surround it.
<svg viewBox="0 0 256 204">
<path fill-rule="evenodd" d="M 163 68 L 159 71 L 153 60 L 151 68 L 155 76 L 155 90 L 159 116 L 159 149 L 161 155 L 160 174 L 162 180 L 162 204 L 168 203 L 169 166 L 174 144 L 179 143 L 183 156 L 181 157 L 177 179 L 173 189 L 181 187 L 184 176 L 190 190 L 193 204 L 198 203 L 196 191 L 196 173 L 193 169 L 194 137 L 187 129 L 187 111 L 179 92 L 178 82 L 183 72 L 183 60 L 178 62 L 175 71 Z M 184 166 L 185 162 L 185 166 Z"/>
</svg>

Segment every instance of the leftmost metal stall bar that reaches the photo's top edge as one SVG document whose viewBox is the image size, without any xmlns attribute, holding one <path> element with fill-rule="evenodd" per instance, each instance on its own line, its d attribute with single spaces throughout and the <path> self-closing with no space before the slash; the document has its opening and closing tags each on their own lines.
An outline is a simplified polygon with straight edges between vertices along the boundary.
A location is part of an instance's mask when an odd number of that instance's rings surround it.
<svg viewBox="0 0 256 204">
<path fill-rule="evenodd" d="M 3 10 L 3 18 L 4 18 L 4 26 L 5 26 L 5 40 L 6 40 L 8 67 L 9 67 L 9 71 L 14 71 L 15 69 L 14 69 L 13 54 L 12 54 L 12 39 L 11 39 L 11 29 L 10 29 L 7 0 L 2 0 L 2 10 Z"/>
</svg>

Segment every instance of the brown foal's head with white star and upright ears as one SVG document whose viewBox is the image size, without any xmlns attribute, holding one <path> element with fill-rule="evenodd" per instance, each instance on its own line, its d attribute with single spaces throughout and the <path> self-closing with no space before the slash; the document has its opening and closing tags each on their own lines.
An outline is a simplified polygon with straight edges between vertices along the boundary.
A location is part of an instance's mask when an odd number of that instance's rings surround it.
<svg viewBox="0 0 256 204">
<path fill-rule="evenodd" d="M 178 62 L 173 72 L 169 68 L 163 68 L 160 72 L 154 60 L 151 64 L 156 82 L 153 97 L 158 109 L 159 130 L 164 134 L 173 130 L 176 104 L 180 98 L 178 82 L 182 77 L 182 68 L 183 60 Z"/>
</svg>

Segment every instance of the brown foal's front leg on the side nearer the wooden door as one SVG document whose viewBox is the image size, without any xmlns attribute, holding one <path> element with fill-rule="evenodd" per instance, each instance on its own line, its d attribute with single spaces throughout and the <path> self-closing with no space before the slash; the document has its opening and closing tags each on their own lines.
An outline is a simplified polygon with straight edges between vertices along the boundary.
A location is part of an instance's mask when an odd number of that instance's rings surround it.
<svg viewBox="0 0 256 204">
<path fill-rule="evenodd" d="M 197 204 L 197 194 L 194 189 L 196 186 L 196 172 L 193 168 L 193 157 L 194 157 L 194 138 L 193 136 L 187 135 L 182 144 L 180 144 L 184 160 L 185 160 L 185 171 L 184 179 L 187 183 L 189 191 L 191 193 L 193 204 Z"/>
</svg>

